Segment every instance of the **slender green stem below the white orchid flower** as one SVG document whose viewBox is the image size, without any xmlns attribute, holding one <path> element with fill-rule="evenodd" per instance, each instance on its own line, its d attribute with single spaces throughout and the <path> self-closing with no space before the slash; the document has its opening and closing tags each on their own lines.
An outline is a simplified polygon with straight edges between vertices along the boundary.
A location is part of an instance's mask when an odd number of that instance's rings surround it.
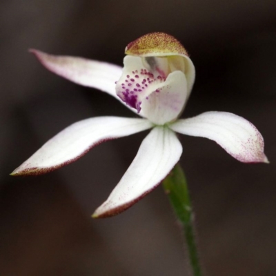
<svg viewBox="0 0 276 276">
<path fill-rule="evenodd" d="M 175 215 L 181 222 L 181 226 L 184 230 L 193 276 L 201 276 L 202 273 L 195 242 L 193 208 L 190 202 L 186 177 L 179 164 L 177 164 L 166 179 L 164 179 L 163 187 L 170 198 L 170 203 L 175 210 Z"/>
</svg>

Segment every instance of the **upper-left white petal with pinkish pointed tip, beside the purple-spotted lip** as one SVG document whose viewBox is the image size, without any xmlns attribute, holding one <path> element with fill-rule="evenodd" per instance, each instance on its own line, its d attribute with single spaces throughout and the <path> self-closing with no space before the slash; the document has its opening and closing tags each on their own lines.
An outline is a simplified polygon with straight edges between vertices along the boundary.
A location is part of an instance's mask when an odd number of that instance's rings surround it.
<svg viewBox="0 0 276 276">
<path fill-rule="evenodd" d="M 48 70 L 82 86 L 97 88 L 117 97 L 115 82 L 121 77 L 122 68 L 115 64 L 83 59 L 81 57 L 49 55 L 30 50 Z"/>
</svg>

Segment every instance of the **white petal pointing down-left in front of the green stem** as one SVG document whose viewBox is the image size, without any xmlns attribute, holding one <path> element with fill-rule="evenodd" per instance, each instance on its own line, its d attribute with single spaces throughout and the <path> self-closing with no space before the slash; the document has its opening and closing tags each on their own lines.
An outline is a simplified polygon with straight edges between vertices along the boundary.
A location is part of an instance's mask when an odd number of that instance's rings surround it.
<svg viewBox="0 0 276 276">
<path fill-rule="evenodd" d="M 132 164 L 93 217 L 121 213 L 155 188 L 177 164 L 182 147 L 174 132 L 155 127 L 142 142 Z"/>
</svg>

